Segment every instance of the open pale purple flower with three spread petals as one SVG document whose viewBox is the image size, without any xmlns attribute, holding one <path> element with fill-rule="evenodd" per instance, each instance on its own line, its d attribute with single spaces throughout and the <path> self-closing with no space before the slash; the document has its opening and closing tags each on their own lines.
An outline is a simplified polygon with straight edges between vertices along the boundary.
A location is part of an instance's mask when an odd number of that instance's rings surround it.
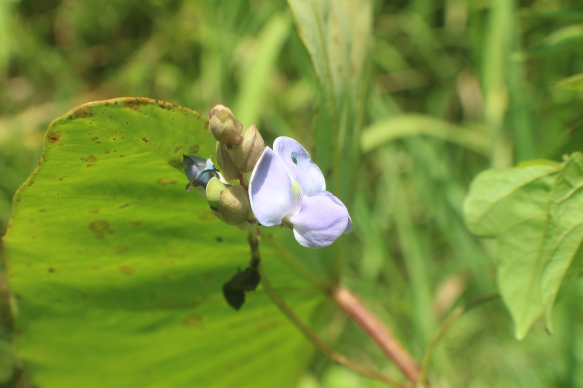
<svg viewBox="0 0 583 388">
<path fill-rule="evenodd" d="M 298 243 L 326 247 L 350 233 L 345 205 L 326 191 L 324 175 L 297 141 L 278 137 L 265 147 L 251 173 L 251 208 L 264 226 L 293 227 Z"/>
</svg>

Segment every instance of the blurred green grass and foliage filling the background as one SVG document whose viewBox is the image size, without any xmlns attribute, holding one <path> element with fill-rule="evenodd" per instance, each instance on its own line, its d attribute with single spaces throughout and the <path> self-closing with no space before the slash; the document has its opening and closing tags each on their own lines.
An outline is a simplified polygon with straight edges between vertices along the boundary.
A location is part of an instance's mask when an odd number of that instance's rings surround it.
<svg viewBox="0 0 583 388">
<path fill-rule="evenodd" d="M 463 223 L 470 180 L 582 148 L 581 92 L 553 86 L 581 73 L 583 8 L 577 0 L 403 0 L 374 2 L 371 15 L 358 104 L 343 121 L 348 105 L 329 111 L 329 88 L 283 1 L 0 2 L 0 233 L 47 124 L 73 106 L 124 95 L 203 113 L 221 103 L 255 122 L 266 143 L 292 136 L 315 146 L 318 164 L 350 171 L 330 183 L 355 226 L 338 245 L 342 282 L 422 358 L 453 307 L 496 291 L 496 245 Z M 340 161 L 318 149 L 334 120 L 352 149 Z M 558 302 L 552 337 L 538 322 L 516 341 L 501 302 L 462 316 L 437 348 L 431 381 L 583 385 L 582 294 L 578 282 Z M 333 347 L 396 373 L 344 315 L 321 326 Z M 347 375 L 315 354 L 300 386 L 379 386 Z"/>
</svg>

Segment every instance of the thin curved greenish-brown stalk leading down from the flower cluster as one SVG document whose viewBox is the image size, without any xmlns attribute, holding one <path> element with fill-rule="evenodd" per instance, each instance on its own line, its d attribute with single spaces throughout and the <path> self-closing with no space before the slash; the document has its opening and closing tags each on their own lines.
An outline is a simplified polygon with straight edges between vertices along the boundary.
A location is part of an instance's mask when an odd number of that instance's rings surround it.
<svg viewBox="0 0 583 388">
<path fill-rule="evenodd" d="M 250 239 L 251 242 L 251 239 Z M 251 247 L 251 251 L 254 250 L 254 247 Z M 259 275 L 261 276 L 261 284 L 265 291 L 265 294 L 271 299 L 273 304 L 275 304 L 279 311 L 283 313 L 290 321 L 293 323 L 297 329 L 300 330 L 302 334 L 315 346 L 318 348 L 319 351 L 324 353 L 326 356 L 332 359 L 332 361 L 337 362 L 338 364 L 345 366 L 346 368 L 352 369 L 352 371 L 359 373 L 360 375 L 367 376 L 371 379 L 377 379 L 382 382 L 388 383 L 392 386 L 399 387 L 399 388 L 409 388 L 407 385 L 403 385 L 402 383 L 396 382 L 395 380 L 383 375 L 380 372 L 373 371 L 372 369 L 365 368 L 359 364 L 350 361 L 350 359 L 344 357 L 342 354 L 336 353 L 331 348 L 329 348 L 318 336 L 312 332 L 304 322 L 293 312 L 293 310 L 283 301 L 282 297 L 278 294 L 278 292 L 273 288 L 273 285 L 269 281 L 269 277 L 265 272 L 264 266 L 259 264 Z"/>
</svg>

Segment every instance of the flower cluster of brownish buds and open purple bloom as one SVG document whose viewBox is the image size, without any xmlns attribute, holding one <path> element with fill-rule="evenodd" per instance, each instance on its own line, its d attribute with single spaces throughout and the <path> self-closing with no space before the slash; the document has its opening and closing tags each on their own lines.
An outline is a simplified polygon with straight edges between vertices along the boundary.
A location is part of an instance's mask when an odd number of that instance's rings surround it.
<svg viewBox="0 0 583 388">
<path fill-rule="evenodd" d="M 273 149 L 266 147 L 254 125 L 243 133 L 243 125 L 223 105 L 210 111 L 209 130 L 217 140 L 221 171 L 210 159 L 185 155 L 187 190 L 204 187 L 210 208 L 224 222 L 240 229 L 255 222 L 289 227 L 308 248 L 330 245 L 352 230 L 345 205 L 326 191 L 324 175 L 297 141 L 278 137 Z"/>
</svg>

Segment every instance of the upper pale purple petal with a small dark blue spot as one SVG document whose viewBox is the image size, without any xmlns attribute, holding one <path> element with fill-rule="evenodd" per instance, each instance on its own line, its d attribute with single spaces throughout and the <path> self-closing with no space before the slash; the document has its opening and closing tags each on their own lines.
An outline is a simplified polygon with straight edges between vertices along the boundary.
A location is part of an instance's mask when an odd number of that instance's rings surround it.
<svg viewBox="0 0 583 388">
<path fill-rule="evenodd" d="M 300 143 L 281 136 L 273 142 L 273 151 L 282 160 L 291 179 L 300 183 L 304 194 L 310 195 L 326 190 L 322 171 L 312 162 L 310 154 Z"/>
</svg>

